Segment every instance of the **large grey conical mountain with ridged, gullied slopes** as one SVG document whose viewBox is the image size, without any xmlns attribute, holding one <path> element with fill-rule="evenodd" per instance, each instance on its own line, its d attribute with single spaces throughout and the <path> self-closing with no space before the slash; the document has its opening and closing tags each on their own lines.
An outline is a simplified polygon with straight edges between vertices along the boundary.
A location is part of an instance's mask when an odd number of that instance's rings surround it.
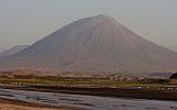
<svg viewBox="0 0 177 110">
<path fill-rule="evenodd" d="M 0 61 L 0 69 L 53 72 L 177 70 L 177 53 L 107 15 L 81 19 Z"/>
</svg>

